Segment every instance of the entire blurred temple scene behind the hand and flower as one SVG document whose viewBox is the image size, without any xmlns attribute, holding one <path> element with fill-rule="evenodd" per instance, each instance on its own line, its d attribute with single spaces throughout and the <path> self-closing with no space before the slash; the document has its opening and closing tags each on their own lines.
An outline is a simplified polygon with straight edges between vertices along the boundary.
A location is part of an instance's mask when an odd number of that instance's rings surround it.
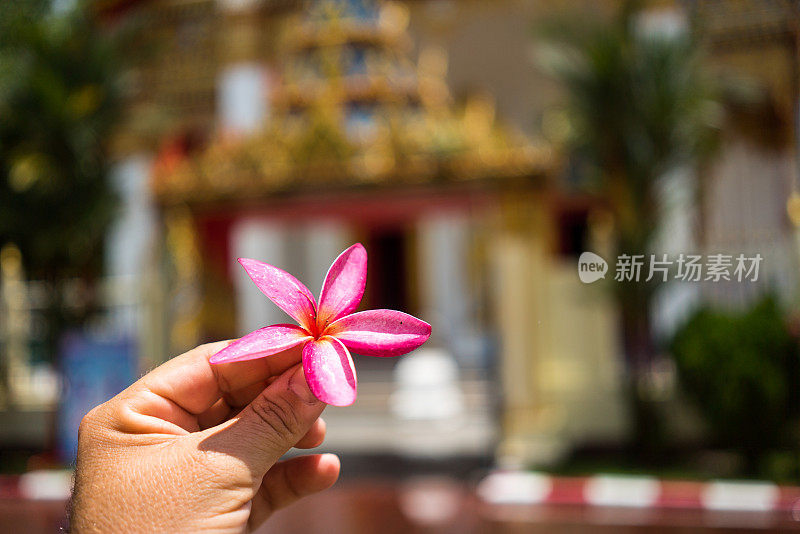
<svg viewBox="0 0 800 534">
<path fill-rule="evenodd" d="M 800 528 L 798 128 L 789 0 L 1 3 L 0 530 L 93 406 L 284 322 L 236 258 L 356 241 L 433 337 L 355 356 L 342 480 L 265 531 Z"/>
</svg>

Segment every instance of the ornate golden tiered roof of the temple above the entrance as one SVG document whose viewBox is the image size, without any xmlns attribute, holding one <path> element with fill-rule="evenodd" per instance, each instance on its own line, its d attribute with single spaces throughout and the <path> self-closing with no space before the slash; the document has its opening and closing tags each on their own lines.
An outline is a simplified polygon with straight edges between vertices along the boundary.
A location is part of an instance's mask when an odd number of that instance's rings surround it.
<svg viewBox="0 0 800 534">
<path fill-rule="evenodd" d="M 550 150 L 503 127 L 493 101 L 455 106 L 437 49 L 409 57 L 408 12 L 377 0 L 314 0 L 286 20 L 273 113 L 256 135 L 162 151 L 162 203 L 278 192 L 542 176 Z"/>
</svg>

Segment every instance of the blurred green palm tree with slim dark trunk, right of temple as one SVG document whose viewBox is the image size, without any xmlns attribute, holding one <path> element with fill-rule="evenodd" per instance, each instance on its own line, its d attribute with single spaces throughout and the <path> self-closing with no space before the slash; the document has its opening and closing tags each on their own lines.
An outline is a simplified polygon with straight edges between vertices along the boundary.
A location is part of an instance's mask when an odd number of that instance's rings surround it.
<svg viewBox="0 0 800 534">
<path fill-rule="evenodd" d="M 704 76 L 698 47 L 686 32 L 647 32 L 638 2 L 608 23 L 576 19 L 544 29 L 542 57 L 566 94 L 568 151 L 583 185 L 613 212 L 619 253 L 647 254 L 660 220 L 659 181 L 699 164 L 714 146 L 720 106 Z M 635 441 L 658 439 L 643 378 L 655 353 L 653 284 L 615 282 L 622 317 Z"/>
</svg>

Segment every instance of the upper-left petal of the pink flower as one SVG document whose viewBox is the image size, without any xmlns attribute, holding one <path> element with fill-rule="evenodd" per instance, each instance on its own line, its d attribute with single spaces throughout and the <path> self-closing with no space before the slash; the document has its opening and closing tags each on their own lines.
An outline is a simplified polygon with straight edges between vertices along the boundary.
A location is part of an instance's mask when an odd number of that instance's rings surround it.
<svg viewBox="0 0 800 534">
<path fill-rule="evenodd" d="M 297 278 L 282 269 L 257 260 L 239 258 L 247 274 L 269 299 L 300 326 L 313 331 L 317 316 L 314 295 Z"/>
</svg>

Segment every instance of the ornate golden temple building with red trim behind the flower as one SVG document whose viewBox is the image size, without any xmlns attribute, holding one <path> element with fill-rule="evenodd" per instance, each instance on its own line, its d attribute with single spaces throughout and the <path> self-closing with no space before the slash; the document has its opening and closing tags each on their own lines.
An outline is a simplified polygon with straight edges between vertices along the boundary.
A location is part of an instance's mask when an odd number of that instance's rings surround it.
<svg viewBox="0 0 800 534">
<path fill-rule="evenodd" d="M 530 64 L 529 23 L 515 6 L 109 2 L 110 23 L 139 25 L 115 145 L 120 176 L 131 190 L 149 184 L 154 211 L 135 200 L 142 217 L 122 226 L 149 228 L 160 244 L 126 246 L 125 260 L 110 262 L 120 275 L 160 277 L 148 324 L 165 330 L 147 336 L 143 354 L 285 321 L 237 257 L 316 290 L 360 241 L 370 260 L 363 306 L 415 313 L 434 336 L 401 359 L 356 356 L 359 397 L 329 410 L 329 447 L 525 463 L 619 441 L 613 308 L 602 290 L 581 287 L 574 264 L 606 246 L 606 218 L 594 199 L 557 185 L 548 145 L 521 133 L 532 120 L 498 117 L 488 92 L 502 80 L 475 71 L 485 54 L 471 72 L 462 63 L 458 98 L 449 89 L 444 43 L 471 28 L 469 46 L 498 47 L 502 32 L 482 31 L 486 20 L 513 29 L 507 53 L 491 56 L 509 55 L 499 75 L 524 84 L 504 106 L 535 99 L 535 75 L 514 70 Z"/>
</svg>

